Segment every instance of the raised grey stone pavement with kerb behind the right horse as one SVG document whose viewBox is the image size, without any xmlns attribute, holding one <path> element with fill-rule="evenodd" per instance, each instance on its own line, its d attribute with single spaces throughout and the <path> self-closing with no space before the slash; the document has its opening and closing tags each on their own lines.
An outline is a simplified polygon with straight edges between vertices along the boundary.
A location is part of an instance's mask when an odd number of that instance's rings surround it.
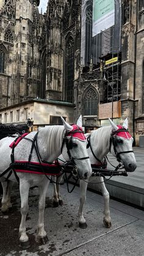
<svg viewBox="0 0 144 256">
<path fill-rule="evenodd" d="M 105 185 L 110 196 L 144 208 L 144 148 L 134 147 L 133 150 L 137 169 L 129 172 L 128 177 L 112 177 L 106 181 Z M 108 159 L 110 163 L 117 166 L 117 161 L 111 154 L 108 155 Z M 107 169 L 113 169 L 113 167 L 108 163 Z M 88 188 L 99 191 L 98 185 L 88 185 Z"/>
</svg>

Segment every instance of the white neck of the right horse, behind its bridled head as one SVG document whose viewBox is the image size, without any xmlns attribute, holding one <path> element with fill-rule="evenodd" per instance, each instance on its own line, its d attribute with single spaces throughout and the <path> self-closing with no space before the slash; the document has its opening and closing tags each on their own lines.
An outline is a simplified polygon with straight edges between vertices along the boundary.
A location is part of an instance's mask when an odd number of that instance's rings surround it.
<svg viewBox="0 0 144 256">
<path fill-rule="evenodd" d="M 94 130 L 91 134 L 90 143 L 92 145 L 93 152 L 100 161 L 103 161 L 104 157 L 109 153 L 111 134 L 112 126 L 101 127 L 98 130 Z M 92 155 L 91 150 L 90 152 Z"/>
</svg>

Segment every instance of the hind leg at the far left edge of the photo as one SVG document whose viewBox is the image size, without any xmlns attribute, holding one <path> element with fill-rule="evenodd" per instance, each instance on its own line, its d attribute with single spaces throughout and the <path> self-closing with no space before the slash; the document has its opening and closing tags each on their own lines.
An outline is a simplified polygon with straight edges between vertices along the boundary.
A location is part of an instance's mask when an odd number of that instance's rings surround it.
<svg viewBox="0 0 144 256">
<path fill-rule="evenodd" d="M 1 211 L 5 213 L 9 211 L 9 208 L 12 207 L 12 203 L 10 203 L 10 190 L 12 188 L 12 181 L 1 181 L 3 188 L 3 196 L 1 201 Z"/>
</svg>

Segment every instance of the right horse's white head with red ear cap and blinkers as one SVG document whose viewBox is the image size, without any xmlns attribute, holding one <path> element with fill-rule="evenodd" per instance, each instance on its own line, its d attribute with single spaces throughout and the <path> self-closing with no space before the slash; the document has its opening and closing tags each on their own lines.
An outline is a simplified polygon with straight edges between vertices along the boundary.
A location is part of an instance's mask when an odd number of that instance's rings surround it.
<svg viewBox="0 0 144 256">
<path fill-rule="evenodd" d="M 110 152 L 117 157 L 119 162 L 124 164 L 127 172 L 134 172 L 137 164 L 132 151 L 133 138 L 128 131 L 128 119 L 124 120 L 123 125 L 115 125 L 111 119 L 109 122 L 112 125 Z"/>
</svg>

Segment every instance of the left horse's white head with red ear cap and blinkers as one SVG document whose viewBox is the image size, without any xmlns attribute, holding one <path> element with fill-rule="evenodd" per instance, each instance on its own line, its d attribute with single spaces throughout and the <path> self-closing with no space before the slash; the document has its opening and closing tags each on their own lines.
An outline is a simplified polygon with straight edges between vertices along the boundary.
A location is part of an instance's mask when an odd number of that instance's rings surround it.
<svg viewBox="0 0 144 256">
<path fill-rule="evenodd" d="M 65 128 L 65 137 L 62 146 L 62 155 L 66 161 L 71 161 L 79 178 L 89 178 L 92 175 L 90 158 L 86 148 L 86 137 L 82 131 L 82 122 L 79 125 L 69 125 L 61 117 Z"/>
</svg>

